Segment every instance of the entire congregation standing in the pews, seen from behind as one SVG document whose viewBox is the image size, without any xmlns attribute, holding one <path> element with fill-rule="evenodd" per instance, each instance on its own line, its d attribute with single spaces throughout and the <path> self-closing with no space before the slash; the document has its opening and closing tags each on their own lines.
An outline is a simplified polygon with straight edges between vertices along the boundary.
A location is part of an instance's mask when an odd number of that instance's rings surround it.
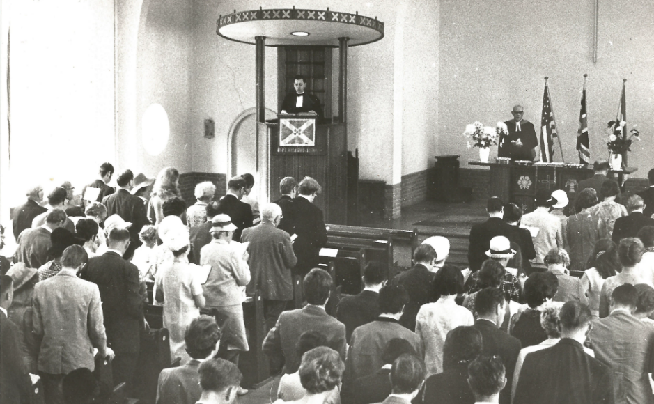
<svg viewBox="0 0 654 404">
<path fill-rule="evenodd" d="M 197 184 L 187 206 L 171 167 L 151 179 L 104 163 L 81 199 L 70 182 L 33 187 L 13 209 L 15 254 L 0 256 L 0 404 L 29 402 L 36 380 L 46 404 L 106 402 L 96 357 L 139 389 L 148 305 L 180 364 L 159 374 L 156 403 L 234 403 L 255 293 L 276 404 L 654 403 L 654 169 L 633 195 L 594 169 L 577 192 L 538 190 L 533 212 L 488 199 L 469 267 L 433 235 L 412 267 L 368 263 L 343 296 L 319 265 L 313 178 L 283 178 L 261 205 L 244 174 L 221 198 Z"/>
</svg>

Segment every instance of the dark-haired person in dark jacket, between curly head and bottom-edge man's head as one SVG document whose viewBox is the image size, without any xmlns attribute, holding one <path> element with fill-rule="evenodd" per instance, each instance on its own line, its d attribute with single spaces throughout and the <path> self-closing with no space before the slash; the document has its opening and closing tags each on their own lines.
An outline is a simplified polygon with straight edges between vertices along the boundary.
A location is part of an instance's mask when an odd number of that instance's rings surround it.
<svg viewBox="0 0 654 404">
<path fill-rule="evenodd" d="M 405 339 L 391 339 L 382 354 L 384 366 L 377 373 L 357 380 L 343 380 L 343 391 L 341 391 L 343 404 L 370 404 L 384 401 L 392 390 L 389 378 L 391 366 L 395 359 L 404 354 L 416 355 L 416 350 Z"/>
</svg>

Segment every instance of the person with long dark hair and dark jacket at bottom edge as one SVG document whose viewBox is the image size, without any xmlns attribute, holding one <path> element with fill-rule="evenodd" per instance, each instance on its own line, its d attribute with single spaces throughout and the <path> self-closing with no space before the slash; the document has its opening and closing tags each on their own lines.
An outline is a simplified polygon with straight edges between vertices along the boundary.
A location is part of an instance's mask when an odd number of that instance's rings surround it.
<svg viewBox="0 0 654 404">
<path fill-rule="evenodd" d="M 468 365 L 481 354 L 481 332 L 456 327 L 447 333 L 443 348 L 443 373 L 427 378 L 424 403 L 474 403 L 467 383 Z"/>
</svg>

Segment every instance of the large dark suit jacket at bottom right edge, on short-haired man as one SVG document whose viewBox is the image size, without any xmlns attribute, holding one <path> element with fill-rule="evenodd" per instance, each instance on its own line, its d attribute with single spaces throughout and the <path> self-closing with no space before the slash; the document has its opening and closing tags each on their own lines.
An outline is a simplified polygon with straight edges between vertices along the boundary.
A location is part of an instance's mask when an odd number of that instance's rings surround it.
<svg viewBox="0 0 654 404">
<path fill-rule="evenodd" d="M 611 369 L 586 354 L 582 344 L 561 339 L 524 358 L 513 403 L 612 404 Z"/>
</svg>

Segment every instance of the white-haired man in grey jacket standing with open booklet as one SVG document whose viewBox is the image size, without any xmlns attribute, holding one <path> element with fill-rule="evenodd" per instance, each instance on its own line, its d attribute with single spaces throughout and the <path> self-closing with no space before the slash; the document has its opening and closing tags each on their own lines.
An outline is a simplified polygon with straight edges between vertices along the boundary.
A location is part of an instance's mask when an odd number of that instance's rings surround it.
<svg viewBox="0 0 654 404">
<path fill-rule="evenodd" d="M 263 316 L 268 331 L 279 314 L 293 300 L 293 279 L 290 271 L 297 263 L 290 235 L 279 228 L 281 208 L 268 203 L 261 209 L 260 224 L 244 229 L 242 242 L 249 242 L 247 249 L 252 280 L 248 288 L 251 292 L 260 290 L 263 298 Z"/>
</svg>

